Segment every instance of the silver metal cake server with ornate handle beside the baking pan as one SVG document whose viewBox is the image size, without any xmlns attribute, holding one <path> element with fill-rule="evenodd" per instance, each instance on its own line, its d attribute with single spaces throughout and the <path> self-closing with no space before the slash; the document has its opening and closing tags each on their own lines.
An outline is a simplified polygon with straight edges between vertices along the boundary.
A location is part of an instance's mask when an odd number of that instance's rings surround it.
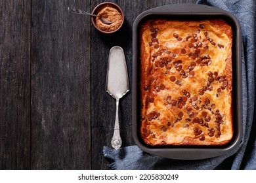
<svg viewBox="0 0 256 183">
<path fill-rule="evenodd" d="M 123 53 L 123 49 L 119 46 L 112 47 L 108 56 L 106 92 L 116 99 L 116 121 L 111 144 L 113 148 L 118 149 L 122 144 L 118 118 L 119 99 L 121 99 L 125 93 L 129 92 L 129 78 L 125 54 Z"/>
</svg>

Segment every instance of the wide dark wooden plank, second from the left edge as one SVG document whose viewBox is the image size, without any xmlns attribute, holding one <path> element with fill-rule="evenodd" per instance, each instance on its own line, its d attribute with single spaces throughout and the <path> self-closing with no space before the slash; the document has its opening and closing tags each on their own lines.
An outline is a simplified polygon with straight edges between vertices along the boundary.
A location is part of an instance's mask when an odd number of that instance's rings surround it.
<svg viewBox="0 0 256 183">
<path fill-rule="evenodd" d="M 32 169 L 91 169 L 90 17 L 68 6 L 32 0 Z"/>
</svg>

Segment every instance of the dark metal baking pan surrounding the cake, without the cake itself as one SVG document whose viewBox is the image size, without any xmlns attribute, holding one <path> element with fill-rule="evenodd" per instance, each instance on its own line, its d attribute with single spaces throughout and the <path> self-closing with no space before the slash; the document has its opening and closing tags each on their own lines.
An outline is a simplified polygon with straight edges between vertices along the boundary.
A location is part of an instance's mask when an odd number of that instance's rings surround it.
<svg viewBox="0 0 256 183">
<path fill-rule="evenodd" d="M 149 19 L 172 20 L 223 19 L 232 27 L 232 75 L 233 75 L 233 122 L 234 137 L 225 146 L 147 146 L 140 138 L 140 25 Z M 171 159 L 205 159 L 235 152 L 242 140 L 242 35 L 238 20 L 229 12 L 205 5 L 179 4 L 165 5 L 142 12 L 133 24 L 133 139 L 136 144 L 150 154 Z"/>
</svg>

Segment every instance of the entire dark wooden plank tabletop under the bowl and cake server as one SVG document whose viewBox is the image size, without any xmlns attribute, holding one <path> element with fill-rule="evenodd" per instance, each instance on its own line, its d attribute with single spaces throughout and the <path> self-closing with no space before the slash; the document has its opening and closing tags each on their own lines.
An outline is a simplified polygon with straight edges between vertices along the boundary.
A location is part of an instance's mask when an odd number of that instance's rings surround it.
<svg viewBox="0 0 256 183">
<path fill-rule="evenodd" d="M 89 16 L 103 1 L 0 1 L 0 169 L 108 169 L 116 101 L 105 92 L 108 53 L 125 52 L 132 80 L 132 26 L 144 10 L 177 1 L 112 1 L 125 23 L 102 35 Z M 123 146 L 133 145 L 131 92 L 120 101 Z"/>
</svg>

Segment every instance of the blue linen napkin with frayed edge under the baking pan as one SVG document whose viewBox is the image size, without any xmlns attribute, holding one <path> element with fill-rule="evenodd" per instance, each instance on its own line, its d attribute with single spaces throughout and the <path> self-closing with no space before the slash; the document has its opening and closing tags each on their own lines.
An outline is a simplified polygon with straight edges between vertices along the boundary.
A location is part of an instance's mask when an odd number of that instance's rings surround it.
<svg viewBox="0 0 256 183">
<path fill-rule="evenodd" d="M 243 137 L 240 145 L 228 154 L 209 159 L 177 160 L 161 158 L 126 146 L 114 150 L 104 146 L 103 155 L 111 169 L 256 169 L 255 104 L 255 1 L 198 0 L 198 4 L 222 8 L 238 18 L 242 27 L 242 96 Z"/>
</svg>

